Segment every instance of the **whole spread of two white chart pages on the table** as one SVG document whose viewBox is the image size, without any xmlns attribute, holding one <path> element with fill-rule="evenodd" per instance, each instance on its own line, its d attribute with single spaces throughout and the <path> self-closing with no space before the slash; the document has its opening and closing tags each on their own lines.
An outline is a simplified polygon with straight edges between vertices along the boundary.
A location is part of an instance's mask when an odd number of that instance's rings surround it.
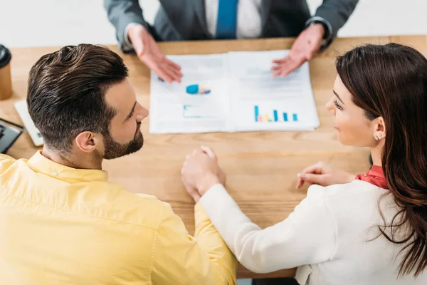
<svg viewBox="0 0 427 285">
<path fill-rule="evenodd" d="M 181 83 L 151 76 L 150 133 L 314 130 L 319 119 L 308 63 L 273 78 L 271 61 L 289 51 L 168 56 Z"/>
</svg>

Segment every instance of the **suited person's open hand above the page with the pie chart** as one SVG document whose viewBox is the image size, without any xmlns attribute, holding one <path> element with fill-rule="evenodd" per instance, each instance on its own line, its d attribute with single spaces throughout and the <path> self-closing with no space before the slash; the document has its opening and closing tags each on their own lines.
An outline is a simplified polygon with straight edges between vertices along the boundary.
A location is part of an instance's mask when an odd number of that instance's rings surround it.
<svg viewBox="0 0 427 285">
<path fill-rule="evenodd" d="M 145 63 L 167 83 L 172 83 L 173 81 L 181 82 L 181 67 L 164 56 L 147 28 L 134 24 L 127 31 L 127 36 L 132 42 L 140 61 Z"/>
</svg>

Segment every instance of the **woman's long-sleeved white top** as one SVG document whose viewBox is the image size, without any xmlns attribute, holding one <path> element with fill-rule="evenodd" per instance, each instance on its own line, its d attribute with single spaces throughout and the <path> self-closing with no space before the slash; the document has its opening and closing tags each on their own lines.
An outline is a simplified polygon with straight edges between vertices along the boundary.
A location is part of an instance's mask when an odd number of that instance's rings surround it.
<svg viewBox="0 0 427 285">
<path fill-rule="evenodd" d="M 296 279 L 305 285 L 426 285 L 427 270 L 397 278 L 402 248 L 384 236 L 374 239 L 382 222 L 378 201 L 388 192 L 368 182 L 320 187 L 282 222 L 260 229 L 228 195 L 215 185 L 200 204 L 238 261 L 247 269 L 267 273 L 298 267 Z M 391 221 L 399 211 L 392 195 L 381 201 Z M 370 239 L 373 239 L 369 241 Z"/>
</svg>

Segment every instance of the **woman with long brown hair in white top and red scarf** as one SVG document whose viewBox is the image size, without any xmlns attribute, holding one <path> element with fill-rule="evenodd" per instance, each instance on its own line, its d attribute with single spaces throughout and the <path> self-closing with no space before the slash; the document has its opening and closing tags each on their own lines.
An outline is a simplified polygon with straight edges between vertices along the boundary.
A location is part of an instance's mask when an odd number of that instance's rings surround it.
<svg viewBox="0 0 427 285">
<path fill-rule="evenodd" d="M 374 166 L 350 175 L 319 163 L 297 187 L 313 184 L 283 222 L 260 229 L 221 182 L 214 152 L 202 147 L 182 170 L 187 190 L 206 210 L 248 269 L 299 266 L 299 284 L 427 284 L 427 59 L 396 43 L 339 56 L 327 103 L 337 138 L 370 147 Z"/>
</svg>

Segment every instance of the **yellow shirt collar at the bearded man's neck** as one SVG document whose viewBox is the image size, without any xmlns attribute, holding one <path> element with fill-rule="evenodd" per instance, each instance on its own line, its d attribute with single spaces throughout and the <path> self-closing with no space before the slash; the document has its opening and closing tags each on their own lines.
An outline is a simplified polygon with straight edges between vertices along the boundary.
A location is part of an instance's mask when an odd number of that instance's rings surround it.
<svg viewBox="0 0 427 285">
<path fill-rule="evenodd" d="M 43 173 L 44 175 L 60 180 L 78 180 L 80 182 L 106 182 L 108 180 L 108 172 L 105 170 L 85 170 L 61 165 L 44 157 L 41 154 L 41 150 L 38 150 L 28 160 L 27 165 L 35 172 Z"/>
</svg>

